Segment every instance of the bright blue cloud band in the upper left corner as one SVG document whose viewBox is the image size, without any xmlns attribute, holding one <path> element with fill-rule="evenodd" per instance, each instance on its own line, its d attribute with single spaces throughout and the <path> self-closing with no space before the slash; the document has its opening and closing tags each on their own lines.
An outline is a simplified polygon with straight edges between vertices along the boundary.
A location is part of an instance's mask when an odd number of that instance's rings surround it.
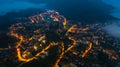
<svg viewBox="0 0 120 67">
<path fill-rule="evenodd" d="M 35 4 L 28 1 L 15 1 L 15 0 L 8 0 L 0 1 L 0 15 L 5 15 L 8 12 L 12 11 L 21 11 L 28 8 L 45 8 L 46 4 Z"/>
</svg>

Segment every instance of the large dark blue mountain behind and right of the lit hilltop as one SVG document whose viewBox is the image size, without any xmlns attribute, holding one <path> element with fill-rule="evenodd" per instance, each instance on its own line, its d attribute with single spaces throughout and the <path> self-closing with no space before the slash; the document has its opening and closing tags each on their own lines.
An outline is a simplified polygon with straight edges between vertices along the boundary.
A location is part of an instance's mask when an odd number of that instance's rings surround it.
<svg viewBox="0 0 120 67">
<path fill-rule="evenodd" d="M 47 3 L 50 9 L 58 10 L 69 20 L 86 23 L 118 20 L 110 15 L 114 7 L 102 0 L 53 0 Z"/>
</svg>

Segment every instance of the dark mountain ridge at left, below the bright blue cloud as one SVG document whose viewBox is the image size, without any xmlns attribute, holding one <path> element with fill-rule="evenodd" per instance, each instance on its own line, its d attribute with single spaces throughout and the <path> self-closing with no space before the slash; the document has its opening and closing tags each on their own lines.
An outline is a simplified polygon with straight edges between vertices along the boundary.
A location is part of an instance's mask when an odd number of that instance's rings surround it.
<svg viewBox="0 0 120 67">
<path fill-rule="evenodd" d="M 0 31 L 5 31 L 14 23 L 28 21 L 28 17 L 34 14 L 44 12 L 42 9 L 26 9 L 19 12 L 9 12 L 6 15 L 0 16 Z"/>
</svg>

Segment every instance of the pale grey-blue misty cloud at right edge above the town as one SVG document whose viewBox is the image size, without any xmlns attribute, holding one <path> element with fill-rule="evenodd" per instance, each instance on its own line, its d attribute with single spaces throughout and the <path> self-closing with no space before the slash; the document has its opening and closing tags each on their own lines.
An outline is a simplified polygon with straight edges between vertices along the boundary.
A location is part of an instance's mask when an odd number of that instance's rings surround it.
<svg viewBox="0 0 120 67">
<path fill-rule="evenodd" d="M 120 38 L 120 25 L 112 24 L 104 27 L 106 32 L 114 37 Z"/>
</svg>

